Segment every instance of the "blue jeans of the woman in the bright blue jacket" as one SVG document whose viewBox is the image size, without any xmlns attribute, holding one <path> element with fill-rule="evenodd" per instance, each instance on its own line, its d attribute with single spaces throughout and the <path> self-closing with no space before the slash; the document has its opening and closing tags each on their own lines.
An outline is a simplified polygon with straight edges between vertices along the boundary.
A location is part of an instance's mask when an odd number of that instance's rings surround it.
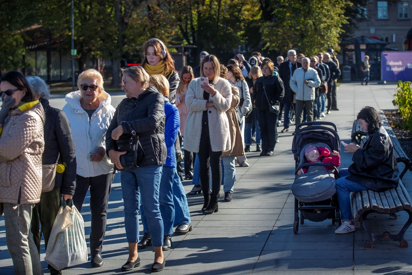
<svg viewBox="0 0 412 275">
<path fill-rule="evenodd" d="M 159 188 L 160 214 L 163 220 L 163 234 L 173 234 L 173 221 L 175 220 L 175 205 L 173 204 L 173 176 L 177 170 L 176 167 L 163 166 L 162 179 Z M 180 179 L 180 178 L 179 178 Z M 149 233 L 145 208 L 143 202 L 140 204 L 140 216 L 142 218 L 143 232 Z"/>
</svg>

